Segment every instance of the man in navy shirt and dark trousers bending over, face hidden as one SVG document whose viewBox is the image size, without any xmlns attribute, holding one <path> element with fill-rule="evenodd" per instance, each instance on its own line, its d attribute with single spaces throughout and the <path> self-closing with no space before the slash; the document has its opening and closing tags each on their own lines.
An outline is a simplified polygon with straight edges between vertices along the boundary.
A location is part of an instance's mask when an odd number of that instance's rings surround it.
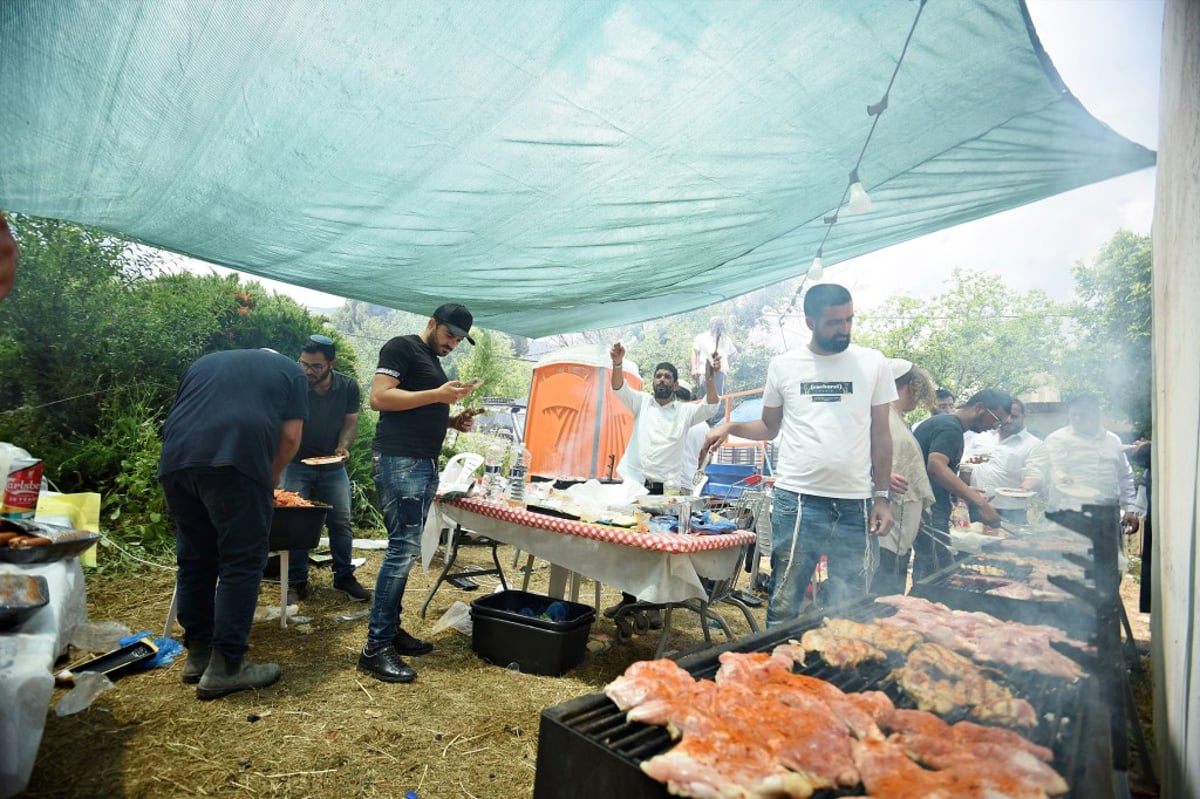
<svg viewBox="0 0 1200 799">
<path fill-rule="evenodd" d="M 280 678 L 246 660 L 266 565 L 275 485 L 296 447 L 308 400 L 304 373 L 276 352 L 199 359 L 162 428 L 158 481 L 175 522 L 175 597 L 184 681 L 215 699 Z"/>
</svg>

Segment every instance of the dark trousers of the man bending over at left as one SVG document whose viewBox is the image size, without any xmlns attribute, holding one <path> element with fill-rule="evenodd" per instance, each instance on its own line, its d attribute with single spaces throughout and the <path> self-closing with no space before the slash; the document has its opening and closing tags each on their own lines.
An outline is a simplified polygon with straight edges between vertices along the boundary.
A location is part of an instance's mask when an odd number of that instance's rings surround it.
<svg viewBox="0 0 1200 799">
<path fill-rule="evenodd" d="M 270 486 L 233 467 L 197 467 L 162 476 L 175 521 L 175 589 L 184 645 L 211 643 L 240 661 L 266 565 Z"/>
</svg>

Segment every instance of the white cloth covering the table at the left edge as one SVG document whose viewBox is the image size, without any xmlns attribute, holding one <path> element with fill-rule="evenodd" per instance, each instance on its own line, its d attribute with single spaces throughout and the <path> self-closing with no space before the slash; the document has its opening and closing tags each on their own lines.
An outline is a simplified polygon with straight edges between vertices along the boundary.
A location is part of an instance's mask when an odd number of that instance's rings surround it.
<svg viewBox="0 0 1200 799">
<path fill-rule="evenodd" d="M 23 625 L 0 632 L 0 797 L 25 789 L 42 743 L 54 689 L 54 661 L 88 618 L 77 558 L 30 566 L 0 564 L 0 572 L 46 578 L 50 602 Z"/>
</svg>

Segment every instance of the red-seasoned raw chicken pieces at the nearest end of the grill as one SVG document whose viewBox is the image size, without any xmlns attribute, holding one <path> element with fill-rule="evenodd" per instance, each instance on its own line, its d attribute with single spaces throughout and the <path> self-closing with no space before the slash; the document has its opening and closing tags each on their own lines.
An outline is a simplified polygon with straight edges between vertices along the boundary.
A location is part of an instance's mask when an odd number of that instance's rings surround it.
<svg viewBox="0 0 1200 799">
<path fill-rule="evenodd" d="M 606 691 L 632 702 L 630 720 L 682 735 L 641 764 L 676 795 L 803 799 L 859 782 L 872 797 L 901 799 L 1045 799 L 1066 792 L 1044 762 L 1050 752 L 1016 733 L 949 726 L 920 710 L 896 709 L 878 691 L 846 695 L 792 673 L 796 654 L 803 653 L 787 644 L 772 654 L 724 653 L 716 681 L 691 685 L 670 661 L 635 663 Z"/>
</svg>

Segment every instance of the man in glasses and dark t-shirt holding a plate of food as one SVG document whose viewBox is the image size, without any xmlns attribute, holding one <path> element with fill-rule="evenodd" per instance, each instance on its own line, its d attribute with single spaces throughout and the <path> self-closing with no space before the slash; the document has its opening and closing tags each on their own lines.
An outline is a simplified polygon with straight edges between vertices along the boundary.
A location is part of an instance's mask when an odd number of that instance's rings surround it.
<svg viewBox="0 0 1200 799">
<path fill-rule="evenodd" d="M 359 434 L 359 384 L 334 371 L 337 349 L 329 336 L 310 336 L 300 347 L 300 368 L 308 380 L 308 421 L 304 426 L 300 451 L 283 470 L 288 491 L 330 506 L 325 515 L 329 552 L 334 558 L 334 588 L 355 602 L 371 599 L 354 577 L 350 552 L 350 477 L 346 462 Z M 332 459 L 331 463 L 304 463 L 305 459 Z M 308 595 L 308 551 L 293 549 L 288 558 L 288 603 Z"/>
</svg>

